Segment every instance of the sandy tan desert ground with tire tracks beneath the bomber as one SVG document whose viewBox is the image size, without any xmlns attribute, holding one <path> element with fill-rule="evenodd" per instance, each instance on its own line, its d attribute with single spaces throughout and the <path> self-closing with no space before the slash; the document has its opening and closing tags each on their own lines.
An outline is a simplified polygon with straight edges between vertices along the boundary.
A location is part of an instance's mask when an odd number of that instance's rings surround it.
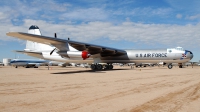
<svg viewBox="0 0 200 112">
<path fill-rule="evenodd" d="M 0 67 L 1 112 L 200 112 L 200 67 Z"/>
</svg>

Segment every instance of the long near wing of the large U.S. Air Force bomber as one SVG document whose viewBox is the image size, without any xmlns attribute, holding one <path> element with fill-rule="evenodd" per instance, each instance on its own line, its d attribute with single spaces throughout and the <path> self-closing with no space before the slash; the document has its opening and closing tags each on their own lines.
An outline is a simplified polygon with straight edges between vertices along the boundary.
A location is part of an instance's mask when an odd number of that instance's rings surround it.
<svg viewBox="0 0 200 112">
<path fill-rule="evenodd" d="M 34 41 L 38 43 L 53 45 L 58 48 L 60 51 L 67 51 L 67 44 L 70 44 L 72 47 L 79 51 L 88 51 L 91 55 L 100 54 L 102 57 L 105 56 L 120 56 L 126 54 L 126 51 L 121 49 L 115 49 L 105 46 L 99 46 L 94 44 L 88 44 L 83 42 L 71 41 L 58 39 L 53 37 L 41 36 L 41 35 L 33 35 L 29 33 L 22 32 L 9 32 L 6 33 L 8 36 L 17 37 L 23 40 Z"/>
</svg>

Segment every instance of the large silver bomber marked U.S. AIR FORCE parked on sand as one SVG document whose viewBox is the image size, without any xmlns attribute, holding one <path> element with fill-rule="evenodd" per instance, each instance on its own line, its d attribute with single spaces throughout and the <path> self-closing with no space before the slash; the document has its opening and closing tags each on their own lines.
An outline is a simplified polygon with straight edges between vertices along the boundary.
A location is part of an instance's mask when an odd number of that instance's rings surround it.
<svg viewBox="0 0 200 112">
<path fill-rule="evenodd" d="M 113 69 L 112 63 L 164 63 L 171 69 L 172 63 L 188 62 L 193 53 L 182 47 L 159 50 L 122 50 L 55 37 L 42 36 L 39 27 L 32 25 L 28 33 L 8 32 L 8 36 L 27 40 L 24 51 L 30 56 L 66 63 L 90 63 L 92 70 Z M 100 63 L 107 63 L 102 65 Z"/>
</svg>

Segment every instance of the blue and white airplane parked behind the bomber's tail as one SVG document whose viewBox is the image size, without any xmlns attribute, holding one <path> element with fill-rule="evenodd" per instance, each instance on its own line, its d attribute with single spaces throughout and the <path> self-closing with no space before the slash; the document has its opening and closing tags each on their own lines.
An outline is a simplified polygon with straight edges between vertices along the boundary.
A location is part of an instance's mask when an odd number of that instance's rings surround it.
<svg viewBox="0 0 200 112">
<path fill-rule="evenodd" d="M 26 68 L 30 67 L 38 68 L 40 65 L 48 63 L 49 61 L 47 60 L 33 60 L 33 59 L 13 59 L 10 62 L 11 66 L 15 66 L 15 68 L 18 68 L 18 66 L 23 66 Z"/>
</svg>

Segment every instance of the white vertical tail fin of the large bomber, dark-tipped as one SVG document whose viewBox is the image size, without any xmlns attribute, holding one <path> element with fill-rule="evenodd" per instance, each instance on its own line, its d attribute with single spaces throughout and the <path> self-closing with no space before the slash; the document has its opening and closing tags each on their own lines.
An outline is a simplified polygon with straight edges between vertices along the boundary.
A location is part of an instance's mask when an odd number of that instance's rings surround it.
<svg viewBox="0 0 200 112">
<path fill-rule="evenodd" d="M 28 33 L 34 34 L 34 35 L 42 35 L 39 27 L 36 25 L 30 26 Z M 27 40 L 26 49 L 24 50 L 25 51 L 49 51 L 52 49 L 54 49 L 52 46 Z"/>
</svg>

